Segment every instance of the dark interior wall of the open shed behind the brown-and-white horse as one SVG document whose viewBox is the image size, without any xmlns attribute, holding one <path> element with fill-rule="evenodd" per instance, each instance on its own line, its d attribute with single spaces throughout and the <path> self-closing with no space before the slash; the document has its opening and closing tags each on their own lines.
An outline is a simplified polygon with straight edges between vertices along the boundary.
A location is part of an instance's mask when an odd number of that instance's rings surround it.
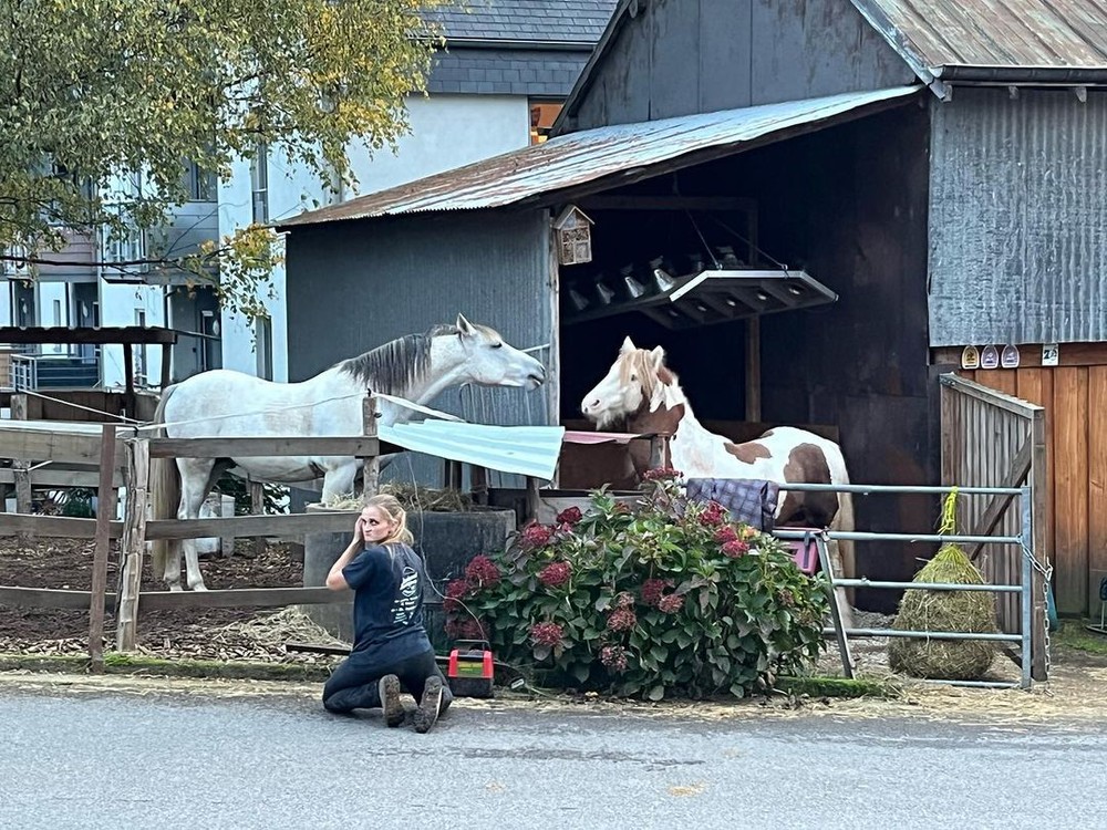
<svg viewBox="0 0 1107 830">
<path fill-rule="evenodd" d="M 858 483 L 939 481 L 938 383 L 927 347 L 928 118 L 912 103 L 622 191 L 660 196 L 676 186 L 686 196 L 756 199 L 763 251 L 840 294 L 832 305 L 762 319 L 762 419 L 836 426 Z M 628 211 L 621 225 L 598 216 L 597 249 L 619 232 L 635 240 L 639 258 L 683 253 L 694 230 L 686 215 L 671 218 L 671 230 L 644 231 L 641 214 Z M 718 239 L 717 222 L 696 218 Z M 579 417 L 581 396 L 630 334 L 639 345 L 665 346 L 701 418 L 742 419 L 744 332 L 741 322 L 670 331 L 641 315 L 567 328 L 562 415 Z M 928 496 L 858 497 L 856 509 L 866 530 L 922 532 L 938 518 Z M 932 550 L 865 543 L 857 552 L 867 575 L 899 579 Z M 897 599 L 858 593 L 862 608 L 890 610 Z"/>
</svg>

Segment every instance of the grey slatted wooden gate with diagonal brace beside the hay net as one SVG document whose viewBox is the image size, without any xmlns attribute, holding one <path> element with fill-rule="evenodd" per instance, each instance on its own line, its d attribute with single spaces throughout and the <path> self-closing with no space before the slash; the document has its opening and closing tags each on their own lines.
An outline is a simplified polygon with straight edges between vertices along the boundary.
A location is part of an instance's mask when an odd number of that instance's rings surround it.
<svg viewBox="0 0 1107 830">
<path fill-rule="evenodd" d="M 1033 531 L 1034 625 L 1032 652 L 1035 679 L 1046 676 L 1046 444 L 1045 411 L 1012 395 L 954 374 L 941 377 L 942 484 L 960 487 L 1031 487 Z M 1018 536 L 1023 529 L 1021 499 L 1014 496 L 964 498 L 958 510 L 959 531 L 968 536 Z M 969 546 L 969 554 L 994 584 L 1022 584 L 1023 552 L 1014 546 Z M 1006 633 L 1021 629 L 1018 594 L 1001 594 L 999 623 Z"/>
</svg>

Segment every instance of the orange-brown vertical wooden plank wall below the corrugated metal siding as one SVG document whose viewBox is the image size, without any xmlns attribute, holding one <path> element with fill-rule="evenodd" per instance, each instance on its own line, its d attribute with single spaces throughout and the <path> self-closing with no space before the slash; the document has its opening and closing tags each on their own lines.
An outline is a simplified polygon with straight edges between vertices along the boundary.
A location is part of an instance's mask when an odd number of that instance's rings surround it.
<svg viewBox="0 0 1107 830">
<path fill-rule="evenodd" d="M 1046 547 L 1062 614 L 1099 613 L 1107 577 L 1107 344 L 1062 344 L 1042 366 L 1041 345 L 1022 346 L 1014 370 L 946 371 L 1046 411 Z"/>
</svg>

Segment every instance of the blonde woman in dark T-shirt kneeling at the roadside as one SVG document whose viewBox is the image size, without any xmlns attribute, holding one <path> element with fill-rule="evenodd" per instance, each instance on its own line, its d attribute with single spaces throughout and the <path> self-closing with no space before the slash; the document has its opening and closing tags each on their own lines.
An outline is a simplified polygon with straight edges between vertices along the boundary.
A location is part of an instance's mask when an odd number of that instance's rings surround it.
<svg viewBox="0 0 1107 830">
<path fill-rule="evenodd" d="M 427 732 L 453 695 L 423 627 L 426 573 L 394 496 L 374 496 L 354 526 L 353 540 L 331 567 L 327 587 L 352 588 L 354 642 L 323 687 L 328 712 L 380 708 L 389 726 L 400 726 L 400 689 L 418 702 L 415 730 Z"/>
</svg>

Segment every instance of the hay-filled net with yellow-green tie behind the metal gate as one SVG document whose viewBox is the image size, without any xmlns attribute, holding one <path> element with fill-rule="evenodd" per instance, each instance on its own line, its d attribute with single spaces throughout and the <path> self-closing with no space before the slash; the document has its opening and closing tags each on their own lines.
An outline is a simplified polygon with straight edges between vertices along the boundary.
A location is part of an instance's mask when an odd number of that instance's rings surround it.
<svg viewBox="0 0 1107 830">
<path fill-rule="evenodd" d="M 915 574 L 915 582 L 984 584 L 984 578 L 956 544 L 943 544 Z M 899 631 L 995 633 L 995 594 L 984 591 L 908 589 L 892 622 Z M 980 679 L 995 658 L 995 643 L 982 640 L 889 637 L 893 672 L 932 679 Z"/>
</svg>

